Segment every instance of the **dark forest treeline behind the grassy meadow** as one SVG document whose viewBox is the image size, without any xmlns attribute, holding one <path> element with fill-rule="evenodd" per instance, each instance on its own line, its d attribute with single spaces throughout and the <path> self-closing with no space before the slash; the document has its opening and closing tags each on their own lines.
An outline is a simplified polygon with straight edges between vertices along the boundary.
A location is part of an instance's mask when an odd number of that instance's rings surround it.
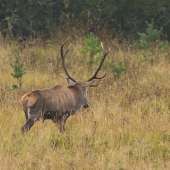
<svg viewBox="0 0 170 170">
<path fill-rule="evenodd" d="M 0 0 L 4 36 L 108 33 L 136 39 L 154 19 L 170 40 L 170 0 Z M 73 32 L 74 30 L 74 32 Z"/>
</svg>

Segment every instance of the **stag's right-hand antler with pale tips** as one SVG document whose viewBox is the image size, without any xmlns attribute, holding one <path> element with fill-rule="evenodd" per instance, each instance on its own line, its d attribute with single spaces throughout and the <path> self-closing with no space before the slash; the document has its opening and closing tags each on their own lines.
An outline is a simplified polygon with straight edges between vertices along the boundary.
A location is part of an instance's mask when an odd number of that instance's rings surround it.
<svg viewBox="0 0 170 170">
<path fill-rule="evenodd" d="M 101 69 L 101 67 L 102 67 L 102 65 L 103 65 L 103 62 L 104 62 L 107 54 L 108 54 L 109 51 L 110 51 L 110 48 L 109 48 L 108 52 L 105 52 L 105 50 L 104 50 L 104 48 L 103 48 L 102 42 L 101 42 L 101 46 L 102 46 L 102 50 L 103 50 L 103 59 L 102 59 L 100 65 L 99 65 L 98 69 L 97 69 L 96 72 L 94 73 L 94 75 L 93 75 L 88 81 L 91 81 L 91 80 L 93 80 L 93 79 L 102 79 L 102 78 L 104 78 L 104 77 L 106 76 L 106 73 L 105 73 L 104 76 L 102 76 L 102 77 L 97 77 L 97 74 L 98 74 L 99 70 Z M 98 85 L 99 85 L 99 84 L 91 85 L 90 87 L 94 87 L 94 86 L 98 86 Z"/>
</svg>

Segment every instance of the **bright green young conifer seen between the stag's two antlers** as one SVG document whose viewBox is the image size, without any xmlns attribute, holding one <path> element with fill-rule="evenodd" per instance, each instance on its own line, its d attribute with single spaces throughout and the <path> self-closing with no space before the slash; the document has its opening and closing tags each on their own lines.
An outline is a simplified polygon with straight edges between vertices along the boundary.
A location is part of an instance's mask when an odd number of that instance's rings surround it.
<svg viewBox="0 0 170 170">
<path fill-rule="evenodd" d="M 98 45 L 98 37 L 95 37 L 95 35 L 91 32 L 87 35 L 87 38 L 84 38 L 84 44 L 85 45 L 79 50 L 82 54 L 89 53 L 90 64 L 93 64 L 94 56 L 102 51 L 102 47 Z"/>
</svg>

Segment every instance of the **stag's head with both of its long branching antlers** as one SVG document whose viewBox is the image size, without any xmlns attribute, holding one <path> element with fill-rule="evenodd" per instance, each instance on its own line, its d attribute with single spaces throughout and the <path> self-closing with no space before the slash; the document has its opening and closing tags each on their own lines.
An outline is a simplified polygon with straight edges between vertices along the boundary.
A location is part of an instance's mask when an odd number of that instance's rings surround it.
<svg viewBox="0 0 170 170">
<path fill-rule="evenodd" d="M 69 38 L 68 38 L 68 39 L 69 39 Z M 63 68 L 64 68 L 64 71 L 65 71 L 65 73 L 66 73 L 66 75 L 67 75 L 67 82 L 68 82 L 69 87 L 72 87 L 72 88 L 75 88 L 75 87 L 76 87 L 76 89 L 79 91 L 79 94 L 81 94 L 81 95 L 83 96 L 83 97 L 81 97 L 81 100 L 82 100 L 82 101 L 80 101 L 81 106 L 83 106 L 84 108 L 87 108 L 87 107 L 89 107 L 89 101 L 88 101 L 88 99 L 87 99 L 87 92 L 88 92 L 87 87 L 95 87 L 95 86 L 98 86 L 99 84 L 93 85 L 94 80 L 95 80 L 95 79 L 103 79 L 103 78 L 106 76 L 106 73 L 105 73 L 104 76 L 102 76 L 102 77 L 97 77 L 97 74 L 98 74 L 99 70 L 101 69 L 101 67 L 102 67 L 102 65 L 103 65 L 103 62 L 104 62 L 107 54 L 109 53 L 110 49 L 109 49 L 108 52 L 105 52 L 105 50 L 104 50 L 104 48 L 103 48 L 103 45 L 102 45 L 102 43 L 101 43 L 101 46 L 102 46 L 102 49 L 103 49 L 103 58 L 102 58 L 102 61 L 101 61 L 100 65 L 99 65 L 99 67 L 97 68 L 96 72 L 94 73 L 94 75 L 93 75 L 91 78 L 89 78 L 86 83 L 81 83 L 81 82 L 77 82 L 74 78 L 72 78 L 72 77 L 69 75 L 69 73 L 68 73 L 68 71 L 67 71 L 67 69 L 66 69 L 66 66 L 65 66 L 65 56 L 66 56 L 66 54 L 67 54 L 68 51 L 69 51 L 69 47 L 68 47 L 68 49 L 66 50 L 66 52 L 65 52 L 64 55 L 63 55 L 63 47 L 64 47 L 64 44 L 68 41 L 68 39 L 65 40 L 64 43 L 63 43 L 62 46 L 61 46 L 61 57 L 62 57 Z"/>
</svg>

